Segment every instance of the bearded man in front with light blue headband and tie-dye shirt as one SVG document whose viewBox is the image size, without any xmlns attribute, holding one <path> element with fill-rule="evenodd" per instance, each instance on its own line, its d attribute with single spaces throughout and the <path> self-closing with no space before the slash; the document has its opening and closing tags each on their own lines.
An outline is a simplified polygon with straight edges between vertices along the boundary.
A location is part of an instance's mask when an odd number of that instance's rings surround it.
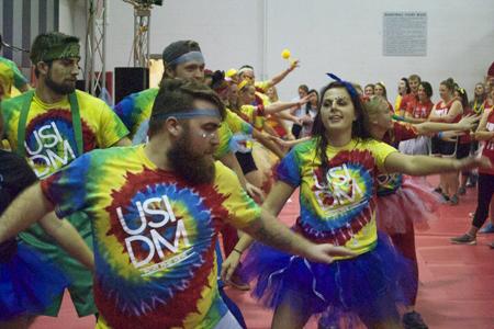
<svg viewBox="0 0 494 329">
<path fill-rule="evenodd" d="M 209 87 L 167 79 L 147 144 L 86 154 L 29 188 L 0 217 L 0 242 L 54 208 L 83 212 L 94 229 L 97 328 L 239 329 L 216 283 L 224 224 L 315 262 L 353 253 L 310 242 L 256 205 L 214 160 L 224 116 Z"/>
</svg>

